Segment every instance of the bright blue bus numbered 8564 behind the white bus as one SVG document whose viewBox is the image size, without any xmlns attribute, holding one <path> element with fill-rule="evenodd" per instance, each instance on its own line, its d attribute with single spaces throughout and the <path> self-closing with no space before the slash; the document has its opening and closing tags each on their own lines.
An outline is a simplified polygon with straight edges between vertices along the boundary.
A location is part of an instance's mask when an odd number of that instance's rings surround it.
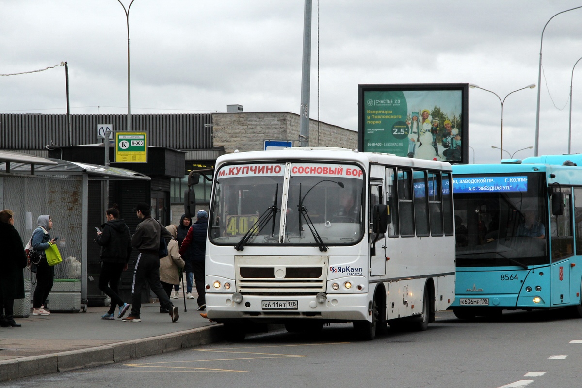
<svg viewBox="0 0 582 388">
<path fill-rule="evenodd" d="M 569 308 L 582 317 L 582 155 L 453 166 L 457 318 Z"/>
</svg>

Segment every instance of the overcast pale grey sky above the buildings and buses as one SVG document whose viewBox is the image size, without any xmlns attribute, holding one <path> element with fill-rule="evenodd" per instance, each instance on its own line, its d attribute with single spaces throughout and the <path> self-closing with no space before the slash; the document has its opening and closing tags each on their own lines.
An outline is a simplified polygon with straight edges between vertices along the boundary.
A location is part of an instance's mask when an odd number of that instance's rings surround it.
<svg viewBox="0 0 582 388">
<path fill-rule="evenodd" d="M 129 5 L 130 0 L 122 0 Z M 503 99 L 538 83 L 548 19 L 569 0 L 313 0 L 312 119 L 357 130 L 359 84 L 473 83 Z M 319 11 L 317 10 L 319 8 Z M 299 113 L 303 0 L 135 0 L 132 113 Z M 318 13 L 319 12 L 319 16 Z M 318 21 L 319 18 L 319 21 Z M 540 155 L 567 152 L 582 8 L 544 33 Z M 319 24 L 319 35 L 317 32 Z M 319 52 L 318 52 L 319 40 Z M 0 0 L 0 74 L 69 63 L 74 113 L 127 113 L 127 30 L 116 0 Z M 582 60 L 572 152 L 582 149 Z M 538 86 L 539 87 L 539 86 Z M 0 113 L 66 113 L 65 69 L 0 77 Z M 534 145 L 538 88 L 510 95 L 503 148 Z M 470 89 L 470 162 L 498 162 L 501 104 Z M 299 134 L 299 129 L 297 129 Z M 463 139 L 465 140 L 465 139 Z M 533 149 L 516 157 L 533 155 Z"/>
</svg>

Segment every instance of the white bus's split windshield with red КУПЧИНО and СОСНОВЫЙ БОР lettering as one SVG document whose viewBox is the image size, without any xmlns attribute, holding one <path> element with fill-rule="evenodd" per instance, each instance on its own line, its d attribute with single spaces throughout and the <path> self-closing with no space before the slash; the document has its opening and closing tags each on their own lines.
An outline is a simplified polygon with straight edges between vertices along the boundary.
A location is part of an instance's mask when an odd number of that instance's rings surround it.
<svg viewBox="0 0 582 388">
<path fill-rule="evenodd" d="M 326 247 L 355 244 L 363 236 L 363 170 L 357 166 L 230 165 L 218 170 L 215 180 L 210 220 L 215 244 Z"/>
</svg>

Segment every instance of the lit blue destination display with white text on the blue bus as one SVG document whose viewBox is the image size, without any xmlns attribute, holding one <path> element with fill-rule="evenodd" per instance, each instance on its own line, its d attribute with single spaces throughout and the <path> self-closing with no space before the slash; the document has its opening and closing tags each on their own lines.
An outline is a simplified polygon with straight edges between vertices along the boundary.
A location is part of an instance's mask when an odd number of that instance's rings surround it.
<svg viewBox="0 0 582 388">
<path fill-rule="evenodd" d="M 527 176 L 453 177 L 453 193 L 510 193 L 527 191 Z"/>
</svg>

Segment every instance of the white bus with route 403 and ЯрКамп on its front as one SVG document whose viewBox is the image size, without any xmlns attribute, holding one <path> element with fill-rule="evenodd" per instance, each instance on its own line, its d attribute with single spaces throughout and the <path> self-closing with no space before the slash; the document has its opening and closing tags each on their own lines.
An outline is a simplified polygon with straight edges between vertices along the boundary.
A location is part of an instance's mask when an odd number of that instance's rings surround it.
<svg viewBox="0 0 582 388">
<path fill-rule="evenodd" d="M 455 298 L 449 163 L 343 148 L 218 158 L 207 317 L 230 340 L 353 322 L 358 337 L 426 330 Z"/>
</svg>

